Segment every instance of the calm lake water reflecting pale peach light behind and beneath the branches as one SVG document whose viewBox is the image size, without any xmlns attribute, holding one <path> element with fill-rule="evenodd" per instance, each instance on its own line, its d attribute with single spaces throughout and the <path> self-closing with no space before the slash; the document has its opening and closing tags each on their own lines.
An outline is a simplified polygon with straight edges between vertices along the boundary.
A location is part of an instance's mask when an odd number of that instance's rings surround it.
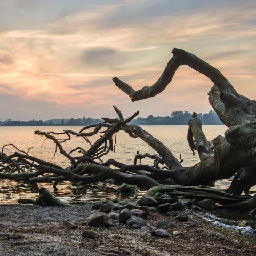
<svg viewBox="0 0 256 256">
<path fill-rule="evenodd" d="M 53 158 L 55 151 L 55 144 L 50 140 L 45 140 L 44 137 L 34 135 L 35 130 L 40 131 L 55 131 L 60 132 L 63 129 L 79 131 L 80 126 L 30 126 L 30 127 L 0 127 L 1 141 L 0 146 L 7 143 L 14 143 L 15 146 L 21 150 L 27 151 L 30 149 L 29 154 L 42 158 L 46 161 L 57 163 L 63 167 L 69 166 L 69 161 L 61 154 L 57 153 L 55 158 Z M 151 133 L 154 137 L 164 142 L 165 145 L 172 151 L 175 157 L 184 160 L 183 166 L 191 166 L 199 162 L 199 157 L 193 156 L 187 142 L 187 125 L 177 125 L 177 126 L 143 126 L 143 129 Z M 224 125 L 204 125 L 204 133 L 208 140 L 212 140 L 217 135 L 223 135 L 226 130 Z M 63 137 L 60 137 L 63 138 Z M 94 138 L 91 142 L 95 141 L 99 137 Z M 151 153 L 154 154 L 155 151 L 151 149 L 145 142 L 140 139 L 133 139 L 129 137 L 125 132 L 120 131 L 116 134 L 116 152 L 109 153 L 103 160 L 108 158 L 115 158 L 119 162 L 125 164 L 133 164 L 133 159 L 136 151 L 139 150 L 140 153 Z M 78 146 L 84 149 L 88 148 L 83 139 L 79 139 L 75 136 L 71 138 L 71 141 L 62 143 L 63 148 L 66 151 L 70 151 Z M 15 150 L 9 146 L 4 149 L 6 154 L 11 154 Z M 78 154 L 79 155 L 79 154 Z M 142 161 L 142 164 L 151 164 L 151 159 L 146 159 Z M 230 179 L 215 182 L 215 187 L 226 188 L 230 184 Z M 52 189 L 52 184 L 43 184 L 44 187 L 50 189 L 55 195 L 60 196 L 64 200 L 76 199 L 82 201 L 95 201 L 99 198 L 115 198 L 118 197 L 115 193 L 115 185 L 98 183 L 97 185 L 78 187 L 73 185 L 71 182 L 63 182 L 58 185 L 58 190 Z M 256 193 L 255 187 L 251 189 L 252 193 Z M 143 194 L 143 191 L 141 191 Z M 15 202 L 18 198 L 36 198 L 37 191 L 33 187 L 29 187 L 26 184 L 17 184 L 14 181 L 0 181 L 0 202 Z"/>
</svg>

